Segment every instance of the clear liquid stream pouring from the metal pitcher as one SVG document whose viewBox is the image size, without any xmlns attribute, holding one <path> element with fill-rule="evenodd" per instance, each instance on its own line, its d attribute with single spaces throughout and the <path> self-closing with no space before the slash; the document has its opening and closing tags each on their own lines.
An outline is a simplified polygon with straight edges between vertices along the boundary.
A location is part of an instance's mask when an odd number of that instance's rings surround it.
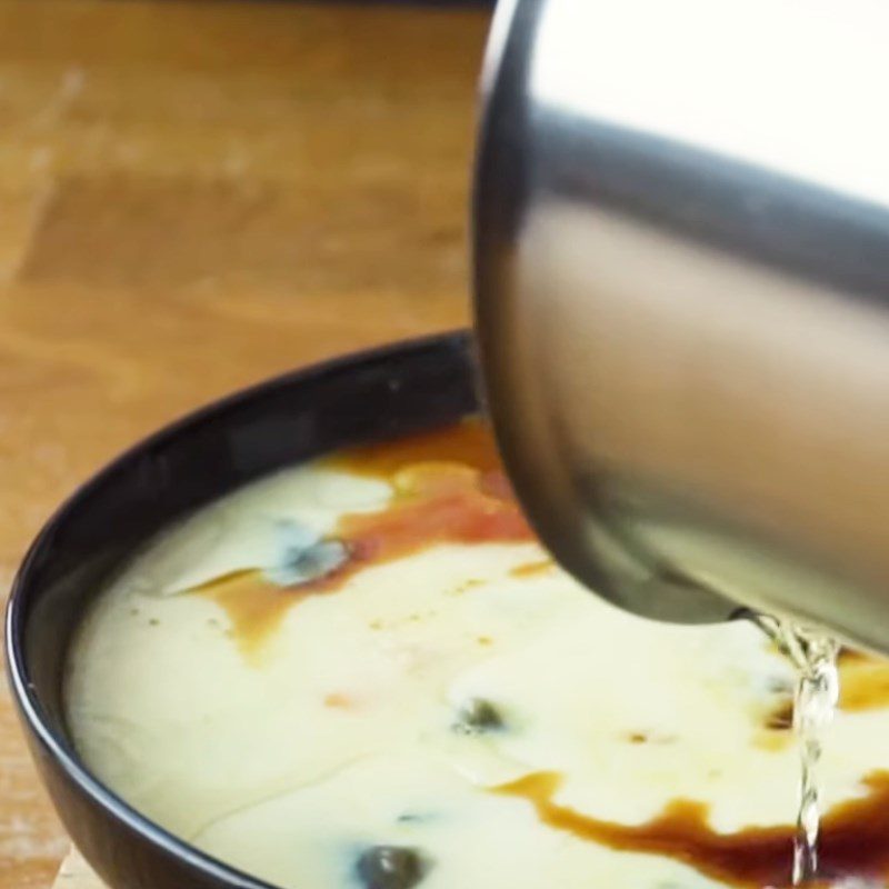
<svg viewBox="0 0 889 889">
<path fill-rule="evenodd" d="M 818 878 L 821 799 L 818 766 L 825 729 L 839 697 L 839 645 L 817 630 L 780 618 L 760 617 L 760 626 L 797 669 L 793 731 L 800 755 L 799 810 L 793 840 L 793 886 Z"/>
</svg>

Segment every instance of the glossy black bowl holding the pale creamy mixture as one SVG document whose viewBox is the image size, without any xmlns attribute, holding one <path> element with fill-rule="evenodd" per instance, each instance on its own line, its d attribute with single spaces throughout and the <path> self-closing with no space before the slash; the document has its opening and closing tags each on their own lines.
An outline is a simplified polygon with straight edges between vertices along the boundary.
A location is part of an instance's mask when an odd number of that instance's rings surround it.
<svg viewBox="0 0 889 889">
<path fill-rule="evenodd" d="M 62 678 L 72 632 L 90 597 L 147 538 L 244 482 L 324 451 L 473 411 L 470 364 L 467 334 L 451 333 L 347 357 L 249 389 L 180 420 L 118 459 L 41 531 L 7 611 L 9 679 L 56 808 L 112 889 L 268 885 L 153 825 L 79 760 L 64 722 Z"/>
</svg>

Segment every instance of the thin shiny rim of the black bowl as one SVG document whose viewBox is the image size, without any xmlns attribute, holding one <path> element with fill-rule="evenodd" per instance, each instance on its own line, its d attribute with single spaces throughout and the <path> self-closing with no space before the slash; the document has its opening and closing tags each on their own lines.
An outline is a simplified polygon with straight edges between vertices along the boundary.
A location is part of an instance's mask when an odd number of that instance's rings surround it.
<svg viewBox="0 0 889 889">
<path fill-rule="evenodd" d="M 448 346 L 469 351 L 470 343 L 469 331 L 466 328 L 457 328 L 337 354 L 238 389 L 177 417 L 157 431 L 138 440 L 78 485 L 50 515 L 28 547 L 10 587 L 3 621 L 7 680 L 20 719 L 39 743 L 41 751 L 61 769 L 64 777 L 73 782 L 78 791 L 84 795 L 94 807 L 110 816 L 113 821 L 121 822 L 159 851 L 184 861 L 200 871 L 202 876 L 220 881 L 222 886 L 238 886 L 241 889 L 280 889 L 273 883 L 266 882 L 201 851 L 188 840 L 178 837 L 152 821 L 148 816 L 142 815 L 94 776 L 80 759 L 73 746 L 50 725 L 29 677 L 24 655 L 24 633 L 28 623 L 29 600 L 38 595 L 38 588 L 32 587 L 31 576 L 34 565 L 39 561 L 44 548 L 51 542 L 57 528 L 69 521 L 71 515 L 77 513 L 82 502 L 93 491 L 112 480 L 118 472 L 126 471 L 128 465 L 138 460 L 146 451 L 170 442 L 211 419 L 219 419 L 229 411 L 237 411 L 260 396 L 298 387 L 328 374 L 357 370 L 363 364 L 394 359 L 410 352 L 422 352 L 427 349 Z"/>
</svg>

